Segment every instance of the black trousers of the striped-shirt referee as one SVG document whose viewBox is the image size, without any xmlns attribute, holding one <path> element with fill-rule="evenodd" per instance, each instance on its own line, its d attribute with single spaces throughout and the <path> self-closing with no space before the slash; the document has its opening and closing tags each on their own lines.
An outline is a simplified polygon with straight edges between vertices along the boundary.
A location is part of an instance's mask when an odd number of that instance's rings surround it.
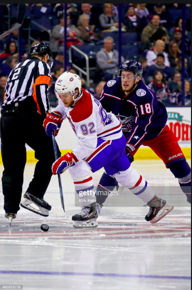
<svg viewBox="0 0 192 290">
<path fill-rule="evenodd" d="M 26 164 L 25 144 L 35 151 L 35 158 L 38 160 L 27 192 L 42 198 L 50 183 L 55 155 L 52 139 L 46 135 L 43 121 L 44 118 L 36 111 L 1 111 L 1 154 L 4 166 L 2 192 L 5 213 L 16 214 L 19 211 Z M 57 150 L 60 157 L 58 146 Z"/>
</svg>

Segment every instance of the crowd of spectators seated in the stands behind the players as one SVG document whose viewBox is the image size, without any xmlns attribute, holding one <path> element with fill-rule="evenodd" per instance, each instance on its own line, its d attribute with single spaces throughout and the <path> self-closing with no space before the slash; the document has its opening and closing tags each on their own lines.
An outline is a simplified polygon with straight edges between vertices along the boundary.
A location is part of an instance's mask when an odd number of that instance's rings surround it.
<svg viewBox="0 0 192 290">
<path fill-rule="evenodd" d="M 13 4 L 16 5 L 16 4 Z M 56 98 L 54 96 L 54 85 L 57 78 L 64 69 L 64 5 L 35 3 L 26 4 L 29 9 L 39 7 L 46 18 L 46 11 L 52 9 L 50 48 L 53 52 L 54 62 L 52 67 L 52 78 L 50 84 L 50 102 L 54 106 Z M 191 4 L 186 4 L 191 8 Z M 171 10 L 170 10 L 171 9 Z M 6 30 L 7 18 L 6 4 L 0 4 L 0 33 Z M 182 73 L 182 29 L 183 20 L 180 17 L 173 17 L 174 11 L 179 16 L 181 4 L 123 4 L 123 15 L 121 30 L 126 33 L 137 33 L 137 41 L 127 45 L 139 45 L 137 55 L 129 56 L 129 48 L 124 58 L 134 57 L 139 59 L 144 67 L 143 80 L 150 88 L 156 92 L 160 101 L 166 105 L 182 105 L 181 94 L 181 73 Z M 35 20 L 35 15 L 33 15 Z M 47 16 L 48 18 L 48 16 Z M 11 19 L 11 25 L 15 19 Z M 53 24 L 54 23 L 54 24 Z M 11 27 L 12 27 L 11 26 Z M 191 105 L 191 19 L 186 19 L 186 40 L 185 40 L 185 99 L 186 105 Z M 92 83 L 89 89 L 95 97 L 99 97 L 102 87 L 109 79 L 116 77 L 119 66 L 118 43 L 114 33 L 118 35 L 119 14 L 117 4 L 67 4 L 67 47 L 71 45 L 100 45 L 101 48 L 95 53 L 95 71 L 92 74 Z M 105 34 L 108 33 L 106 37 Z M 111 33 L 111 34 L 110 34 Z M 124 34 L 122 33 L 122 37 Z M 30 49 L 28 38 L 23 34 L 19 40 L 19 31 L 15 30 L 7 37 L 0 40 L 0 102 L 3 98 L 3 89 L 10 71 L 21 59 L 28 57 Z M 36 37 L 36 42 L 42 41 L 42 34 Z M 19 43 L 18 43 L 19 42 Z M 138 44 L 139 43 L 139 44 Z M 30 43 L 31 45 L 31 43 Z M 124 45 L 126 45 L 124 43 Z M 127 46 L 128 47 L 128 46 Z M 78 73 L 67 63 L 67 69 Z M 96 77 L 97 75 L 97 77 Z M 99 77 L 98 77 L 99 75 Z M 98 83 L 98 84 L 97 84 Z M 82 78 L 82 85 L 86 87 Z"/>
</svg>

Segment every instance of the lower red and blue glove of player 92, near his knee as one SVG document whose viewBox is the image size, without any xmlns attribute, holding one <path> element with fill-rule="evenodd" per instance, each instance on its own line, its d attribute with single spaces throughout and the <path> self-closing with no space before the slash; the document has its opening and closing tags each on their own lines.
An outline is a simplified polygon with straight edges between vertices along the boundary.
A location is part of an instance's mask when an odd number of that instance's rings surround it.
<svg viewBox="0 0 192 290">
<path fill-rule="evenodd" d="M 74 166 L 77 162 L 78 159 L 73 153 L 67 153 L 53 163 L 52 172 L 54 175 L 61 174 L 69 167 Z"/>
</svg>

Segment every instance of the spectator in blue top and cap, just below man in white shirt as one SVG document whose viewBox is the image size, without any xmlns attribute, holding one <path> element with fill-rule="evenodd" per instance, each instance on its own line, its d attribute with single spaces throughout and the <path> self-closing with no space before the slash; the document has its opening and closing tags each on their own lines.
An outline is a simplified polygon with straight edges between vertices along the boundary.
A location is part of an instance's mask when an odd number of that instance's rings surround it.
<svg viewBox="0 0 192 290">
<path fill-rule="evenodd" d="M 147 81 L 150 82 L 153 79 L 153 75 L 155 71 L 162 71 L 164 74 L 164 78 L 168 80 L 172 77 L 173 69 L 170 66 L 165 65 L 165 56 L 163 53 L 159 53 L 157 55 L 155 63 L 148 67 L 147 69 Z"/>
</svg>

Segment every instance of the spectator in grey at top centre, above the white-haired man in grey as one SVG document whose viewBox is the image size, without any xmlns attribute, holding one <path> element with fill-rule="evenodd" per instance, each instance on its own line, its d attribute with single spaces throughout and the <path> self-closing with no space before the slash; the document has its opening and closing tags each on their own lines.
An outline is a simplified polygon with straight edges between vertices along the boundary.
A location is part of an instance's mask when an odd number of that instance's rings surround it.
<svg viewBox="0 0 192 290">
<path fill-rule="evenodd" d="M 104 12 L 99 16 L 99 21 L 102 30 L 110 29 L 117 31 L 119 29 L 119 19 L 113 14 L 113 4 L 104 4 Z"/>
</svg>

